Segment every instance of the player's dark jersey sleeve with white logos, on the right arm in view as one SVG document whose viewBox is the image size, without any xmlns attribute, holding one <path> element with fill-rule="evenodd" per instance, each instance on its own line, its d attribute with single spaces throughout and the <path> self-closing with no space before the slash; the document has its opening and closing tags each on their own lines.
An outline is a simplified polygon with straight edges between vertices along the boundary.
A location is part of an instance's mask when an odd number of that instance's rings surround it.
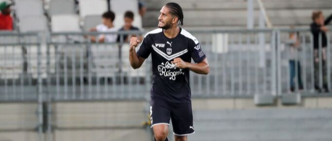
<svg viewBox="0 0 332 141">
<path fill-rule="evenodd" d="M 190 41 L 189 45 L 190 45 L 189 50 L 190 50 L 192 60 L 195 63 L 202 62 L 206 58 L 206 55 L 204 54 L 200 43 L 198 41 L 197 42 Z"/>
</svg>

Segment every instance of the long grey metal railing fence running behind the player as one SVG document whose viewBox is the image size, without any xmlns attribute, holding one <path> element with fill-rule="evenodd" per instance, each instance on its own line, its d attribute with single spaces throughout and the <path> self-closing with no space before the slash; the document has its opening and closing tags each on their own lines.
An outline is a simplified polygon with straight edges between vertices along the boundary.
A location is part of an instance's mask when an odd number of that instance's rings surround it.
<svg viewBox="0 0 332 141">
<path fill-rule="evenodd" d="M 302 85 L 294 92 L 314 94 L 313 37 L 305 30 L 191 31 L 210 64 L 208 75 L 190 73 L 192 97 L 252 97 L 290 92 L 289 33 L 298 32 Z M 151 87 L 151 59 L 142 68 L 129 64 L 129 42 L 119 32 L 116 43 L 92 42 L 100 33 L 0 34 L 1 101 L 33 101 L 38 94 L 53 101 L 146 99 Z M 330 35 L 328 34 L 328 46 Z M 322 50 L 320 50 L 322 52 Z M 327 47 L 331 87 L 331 49 Z M 322 56 L 320 56 L 322 57 Z M 293 57 L 294 58 L 294 57 Z M 297 65 L 296 65 L 297 66 Z M 295 70 L 299 67 L 295 66 Z M 322 70 L 322 63 L 320 63 Z M 325 71 L 324 71 L 325 72 Z M 323 71 L 320 71 L 322 74 Z M 320 75 L 321 76 L 321 75 Z M 320 86 L 323 77 L 320 77 Z"/>
</svg>

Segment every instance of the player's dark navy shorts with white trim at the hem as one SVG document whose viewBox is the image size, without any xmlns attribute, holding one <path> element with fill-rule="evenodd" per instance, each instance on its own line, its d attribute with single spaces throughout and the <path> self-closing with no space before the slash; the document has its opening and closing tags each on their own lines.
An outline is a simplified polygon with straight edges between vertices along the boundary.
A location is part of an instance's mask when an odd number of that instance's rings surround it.
<svg viewBox="0 0 332 141">
<path fill-rule="evenodd" d="M 172 119 L 173 133 L 186 136 L 195 133 L 192 123 L 191 103 L 171 103 L 159 97 L 151 97 L 151 128 L 155 125 L 169 125 Z"/>
</svg>

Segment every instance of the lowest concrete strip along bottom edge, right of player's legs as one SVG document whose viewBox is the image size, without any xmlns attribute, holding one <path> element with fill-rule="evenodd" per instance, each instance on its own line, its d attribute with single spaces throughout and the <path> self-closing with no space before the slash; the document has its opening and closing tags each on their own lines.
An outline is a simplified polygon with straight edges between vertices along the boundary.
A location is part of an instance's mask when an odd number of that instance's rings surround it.
<svg viewBox="0 0 332 141">
<path fill-rule="evenodd" d="M 198 131 L 190 141 L 331 141 L 331 130 L 211 130 Z"/>
</svg>

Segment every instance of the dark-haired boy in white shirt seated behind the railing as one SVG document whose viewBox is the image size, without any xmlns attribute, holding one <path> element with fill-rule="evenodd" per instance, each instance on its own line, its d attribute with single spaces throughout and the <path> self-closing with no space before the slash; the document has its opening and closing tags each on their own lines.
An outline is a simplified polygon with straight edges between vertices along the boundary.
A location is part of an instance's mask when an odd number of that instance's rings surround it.
<svg viewBox="0 0 332 141">
<path fill-rule="evenodd" d="M 114 28 L 113 21 L 115 19 L 115 14 L 112 11 L 107 11 L 102 14 L 102 24 L 97 25 L 95 28 L 90 29 L 90 32 L 103 32 L 110 33 L 116 32 Z M 97 38 L 95 36 L 90 36 L 91 41 L 93 42 L 115 42 L 117 38 L 116 34 L 102 34 Z"/>
</svg>

